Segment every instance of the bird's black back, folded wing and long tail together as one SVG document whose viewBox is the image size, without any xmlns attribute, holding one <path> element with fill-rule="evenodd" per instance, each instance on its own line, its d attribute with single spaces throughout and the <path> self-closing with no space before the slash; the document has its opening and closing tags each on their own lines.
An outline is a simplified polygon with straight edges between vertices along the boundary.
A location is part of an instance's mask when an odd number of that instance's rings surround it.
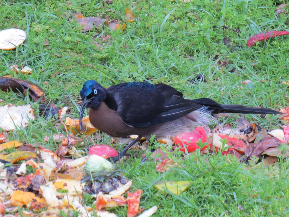
<svg viewBox="0 0 289 217">
<path fill-rule="evenodd" d="M 280 114 L 268 108 L 254 108 L 242 105 L 221 105 L 209 98 L 188 100 L 175 88 L 166 84 L 150 84 L 148 82 L 130 82 L 113 85 L 106 89 L 109 97 L 105 103 L 116 110 L 129 126 L 146 127 L 183 117 L 203 106 L 213 113 L 253 113 Z"/>
</svg>

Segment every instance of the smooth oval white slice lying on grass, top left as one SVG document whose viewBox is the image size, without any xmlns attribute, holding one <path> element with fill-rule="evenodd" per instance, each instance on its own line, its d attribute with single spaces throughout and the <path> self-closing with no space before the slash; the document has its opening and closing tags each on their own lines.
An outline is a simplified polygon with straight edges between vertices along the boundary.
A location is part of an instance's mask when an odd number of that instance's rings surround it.
<svg viewBox="0 0 289 217">
<path fill-rule="evenodd" d="M 20 29 L 6 29 L 0 31 L 0 49 L 12 50 L 21 45 L 26 39 L 26 32 Z"/>
</svg>

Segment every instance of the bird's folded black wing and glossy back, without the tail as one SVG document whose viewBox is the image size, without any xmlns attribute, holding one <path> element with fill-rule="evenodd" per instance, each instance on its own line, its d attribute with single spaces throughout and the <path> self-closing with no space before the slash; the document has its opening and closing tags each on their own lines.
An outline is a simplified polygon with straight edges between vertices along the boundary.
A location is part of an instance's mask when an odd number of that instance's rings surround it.
<svg viewBox="0 0 289 217">
<path fill-rule="evenodd" d="M 130 126 L 146 127 L 175 120 L 201 108 L 166 84 L 131 82 L 114 85 L 107 92 L 117 103 L 116 111 Z"/>
</svg>

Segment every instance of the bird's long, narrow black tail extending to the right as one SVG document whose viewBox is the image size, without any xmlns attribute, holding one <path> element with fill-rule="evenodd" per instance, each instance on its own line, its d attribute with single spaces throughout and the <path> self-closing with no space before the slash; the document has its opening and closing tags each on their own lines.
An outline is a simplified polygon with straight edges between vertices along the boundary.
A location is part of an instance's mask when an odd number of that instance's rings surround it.
<svg viewBox="0 0 289 217">
<path fill-rule="evenodd" d="M 229 112 L 229 113 L 242 113 L 242 114 L 283 114 L 279 111 L 272 110 L 270 108 L 255 108 L 242 105 L 222 105 L 209 98 L 200 98 L 192 100 L 194 103 L 198 103 L 203 106 L 208 106 L 209 110 L 213 113 Z"/>
</svg>

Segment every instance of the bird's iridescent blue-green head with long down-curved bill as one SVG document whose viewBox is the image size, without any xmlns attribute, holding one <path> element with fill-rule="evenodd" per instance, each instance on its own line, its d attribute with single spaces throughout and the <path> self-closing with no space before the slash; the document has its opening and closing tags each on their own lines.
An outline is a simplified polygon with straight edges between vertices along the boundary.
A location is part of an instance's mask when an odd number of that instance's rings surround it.
<svg viewBox="0 0 289 217">
<path fill-rule="evenodd" d="M 105 100 L 105 89 L 96 81 L 88 80 L 84 82 L 80 90 L 82 105 L 79 111 L 79 126 L 82 131 L 82 117 L 85 108 L 98 109 L 101 102 Z"/>
</svg>

